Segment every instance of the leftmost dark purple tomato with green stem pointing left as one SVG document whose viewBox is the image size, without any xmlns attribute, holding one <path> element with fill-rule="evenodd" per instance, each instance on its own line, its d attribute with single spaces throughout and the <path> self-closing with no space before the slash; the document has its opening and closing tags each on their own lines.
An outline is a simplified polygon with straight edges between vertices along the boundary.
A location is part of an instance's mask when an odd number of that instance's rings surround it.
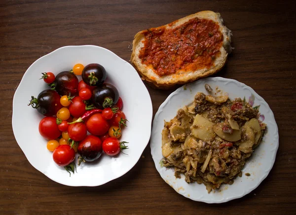
<svg viewBox="0 0 296 215">
<path fill-rule="evenodd" d="M 45 89 L 39 93 L 37 98 L 32 96 L 28 105 L 36 108 L 37 111 L 44 116 L 53 116 L 62 108 L 60 98 L 61 96 L 56 91 Z"/>
</svg>

